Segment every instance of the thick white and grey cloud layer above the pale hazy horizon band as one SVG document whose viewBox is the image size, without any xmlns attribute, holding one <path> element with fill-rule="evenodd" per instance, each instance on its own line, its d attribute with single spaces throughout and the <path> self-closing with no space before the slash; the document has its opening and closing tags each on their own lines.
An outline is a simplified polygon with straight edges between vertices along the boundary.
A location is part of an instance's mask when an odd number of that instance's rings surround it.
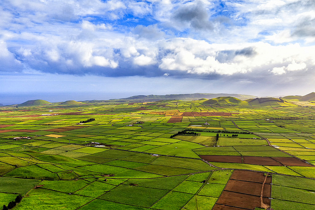
<svg viewBox="0 0 315 210">
<path fill-rule="evenodd" d="M 314 74 L 314 8 L 312 0 L 4 0 L 0 72 L 305 77 Z"/>
</svg>

